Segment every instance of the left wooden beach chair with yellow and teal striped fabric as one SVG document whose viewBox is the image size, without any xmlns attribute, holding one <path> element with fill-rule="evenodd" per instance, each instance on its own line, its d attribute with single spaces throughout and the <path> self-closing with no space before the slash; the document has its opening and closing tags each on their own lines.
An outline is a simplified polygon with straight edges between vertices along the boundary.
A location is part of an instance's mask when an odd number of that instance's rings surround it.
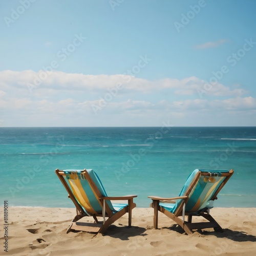
<svg viewBox="0 0 256 256">
<path fill-rule="evenodd" d="M 55 173 L 68 191 L 68 197 L 76 206 L 77 215 L 72 220 L 71 230 L 104 233 L 117 219 L 128 212 L 128 225 L 132 225 L 132 209 L 136 207 L 133 199 L 137 196 L 108 197 L 105 189 L 92 169 L 59 170 Z M 127 200 L 126 204 L 112 204 L 110 200 Z M 92 216 L 94 223 L 77 222 L 83 217 Z M 99 222 L 97 217 L 102 217 Z"/>
</svg>

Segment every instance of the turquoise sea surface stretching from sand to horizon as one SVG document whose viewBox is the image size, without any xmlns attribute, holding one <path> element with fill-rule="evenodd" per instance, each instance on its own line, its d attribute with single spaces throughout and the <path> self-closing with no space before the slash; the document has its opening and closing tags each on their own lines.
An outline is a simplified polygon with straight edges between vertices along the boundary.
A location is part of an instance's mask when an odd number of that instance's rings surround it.
<svg viewBox="0 0 256 256">
<path fill-rule="evenodd" d="M 1 127 L 0 205 L 74 207 L 55 169 L 94 169 L 109 196 L 178 196 L 194 169 L 233 169 L 215 207 L 256 207 L 256 127 Z"/>
</svg>

